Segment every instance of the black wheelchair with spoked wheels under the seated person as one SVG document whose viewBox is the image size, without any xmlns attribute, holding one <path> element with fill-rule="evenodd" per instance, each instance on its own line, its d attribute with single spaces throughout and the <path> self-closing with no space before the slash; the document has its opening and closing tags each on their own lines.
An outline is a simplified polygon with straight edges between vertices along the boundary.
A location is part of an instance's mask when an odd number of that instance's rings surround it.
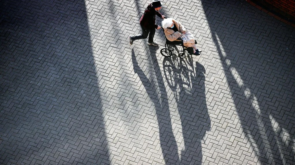
<svg viewBox="0 0 295 165">
<path fill-rule="evenodd" d="M 162 27 L 162 30 L 164 32 L 163 27 Z M 164 36 L 165 36 L 165 33 L 164 33 Z M 174 52 L 174 50 L 176 50 L 177 46 L 181 46 L 181 48 L 182 48 L 181 50 L 177 49 L 178 53 L 182 52 L 182 53 L 178 54 L 178 57 L 180 57 L 180 58 L 185 58 L 186 54 L 192 55 L 194 53 L 193 48 L 187 48 L 187 47 L 183 46 L 183 41 L 180 38 L 178 38 L 175 41 L 169 41 L 165 36 L 165 39 L 166 39 L 165 48 L 162 48 L 160 50 L 160 53 L 164 57 L 170 57 L 172 55 L 172 53 Z M 197 44 L 196 40 L 195 40 L 195 44 Z M 201 53 L 201 52 L 199 52 L 199 53 Z"/>
</svg>

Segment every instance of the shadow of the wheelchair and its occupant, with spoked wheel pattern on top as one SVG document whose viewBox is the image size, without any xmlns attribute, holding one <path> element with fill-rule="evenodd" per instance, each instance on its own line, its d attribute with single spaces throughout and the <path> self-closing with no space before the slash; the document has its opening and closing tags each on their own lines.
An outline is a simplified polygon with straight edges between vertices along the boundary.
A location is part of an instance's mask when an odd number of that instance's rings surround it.
<svg viewBox="0 0 295 165">
<path fill-rule="evenodd" d="M 194 66 L 188 58 L 175 62 L 165 58 L 163 68 L 181 119 L 184 141 L 181 163 L 201 164 L 202 139 L 211 127 L 205 97 L 205 69 L 197 62 Z"/>
</svg>

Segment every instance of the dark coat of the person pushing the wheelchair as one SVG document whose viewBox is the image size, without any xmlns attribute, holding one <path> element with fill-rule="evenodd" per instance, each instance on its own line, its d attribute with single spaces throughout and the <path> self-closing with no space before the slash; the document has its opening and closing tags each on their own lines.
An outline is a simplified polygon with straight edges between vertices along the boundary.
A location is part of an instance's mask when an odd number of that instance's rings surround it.
<svg viewBox="0 0 295 165">
<path fill-rule="evenodd" d="M 159 11 L 156 11 L 152 4 L 149 4 L 145 9 L 145 13 L 140 18 L 140 25 L 146 29 L 158 28 L 158 25 L 156 25 L 155 22 L 156 15 L 160 18 L 162 17 L 162 14 Z"/>
</svg>

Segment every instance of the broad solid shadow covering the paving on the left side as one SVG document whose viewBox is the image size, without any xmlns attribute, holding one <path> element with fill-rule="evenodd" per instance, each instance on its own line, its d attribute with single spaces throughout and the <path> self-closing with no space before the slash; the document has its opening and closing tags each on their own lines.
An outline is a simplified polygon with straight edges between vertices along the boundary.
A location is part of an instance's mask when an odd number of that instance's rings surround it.
<svg viewBox="0 0 295 165">
<path fill-rule="evenodd" d="M 110 164 L 85 2 L 0 12 L 0 164 Z"/>
</svg>

